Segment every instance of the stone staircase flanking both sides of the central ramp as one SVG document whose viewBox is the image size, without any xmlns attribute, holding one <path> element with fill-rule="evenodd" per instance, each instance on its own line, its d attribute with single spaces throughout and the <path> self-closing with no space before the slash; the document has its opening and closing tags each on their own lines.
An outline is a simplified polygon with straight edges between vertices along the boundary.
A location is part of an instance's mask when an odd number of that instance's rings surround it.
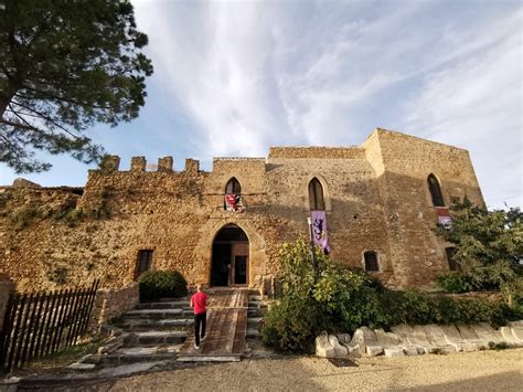
<svg viewBox="0 0 523 392">
<path fill-rule="evenodd" d="M 212 292 L 211 292 L 212 296 Z M 247 308 L 246 356 L 264 352 L 260 326 L 266 305 L 257 292 L 249 292 Z M 175 361 L 193 333 L 193 312 L 189 297 L 139 304 L 114 321 L 120 335 L 104 348 L 103 353 L 87 361 L 104 364 Z"/>
</svg>

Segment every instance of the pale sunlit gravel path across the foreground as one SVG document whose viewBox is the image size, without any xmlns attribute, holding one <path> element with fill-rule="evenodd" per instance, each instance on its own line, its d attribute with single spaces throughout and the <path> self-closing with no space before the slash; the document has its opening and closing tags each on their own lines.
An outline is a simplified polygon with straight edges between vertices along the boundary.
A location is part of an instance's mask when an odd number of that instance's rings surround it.
<svg viewBox="0 0 523 392">
<path fill-rule="evenodd" d="M 337 368 L 313 357 L 244 360 L 121 379 L 109 391 L 522 391 L 523 349 L 361 358 Z"/>
</svg>

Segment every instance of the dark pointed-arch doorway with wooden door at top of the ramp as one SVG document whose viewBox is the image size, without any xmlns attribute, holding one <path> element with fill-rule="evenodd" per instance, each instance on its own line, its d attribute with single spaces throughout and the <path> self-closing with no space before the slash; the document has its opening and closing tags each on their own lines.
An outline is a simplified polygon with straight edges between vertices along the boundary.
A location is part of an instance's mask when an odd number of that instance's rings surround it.
<svg viewBox="0 0 523 392">
<path fill-rule="evenodd" d="M 248 239 L 235 224 L 223 226 L 214 237 L 211 286 L 248 284 Z"/>
</svg>

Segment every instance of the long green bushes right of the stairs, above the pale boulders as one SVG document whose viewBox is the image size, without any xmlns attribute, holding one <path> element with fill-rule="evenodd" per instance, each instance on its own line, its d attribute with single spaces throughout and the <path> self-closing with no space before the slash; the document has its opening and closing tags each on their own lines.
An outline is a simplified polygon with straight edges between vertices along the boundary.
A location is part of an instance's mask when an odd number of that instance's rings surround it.
<svg viewBox="0 0 523 392">
<path fill-rule="evenodd" d="M 279 350 L 307 351 L 321 330 L 352 332 L 361 326 L 398 324 L 502 325 L 523 317 L 500 301 L 436 297 L 418 290 L 389 290 L 363 271 L 316 253 L 314 274 L 303 239 L 280 250 L 282 298 L 266 315 L 262 337 Z"/>
</svg>

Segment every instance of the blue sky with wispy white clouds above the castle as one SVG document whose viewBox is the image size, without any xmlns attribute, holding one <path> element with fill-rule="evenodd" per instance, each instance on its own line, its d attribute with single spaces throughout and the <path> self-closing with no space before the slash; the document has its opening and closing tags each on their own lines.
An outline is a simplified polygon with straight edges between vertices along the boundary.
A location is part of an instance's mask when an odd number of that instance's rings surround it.
<svg viewBox="0 0 523 392">
<path fill-rule="evenodd" d="M 154 64 L 140 117 L 90 136 L 121 157 L 265 157 L 360 145 L 376 127 L 466 148 L 487 204 L 523 205 L 520 1 L 134 1 Z M 0 183 L 83 186 L 52 157 Z"/>
</svg>

